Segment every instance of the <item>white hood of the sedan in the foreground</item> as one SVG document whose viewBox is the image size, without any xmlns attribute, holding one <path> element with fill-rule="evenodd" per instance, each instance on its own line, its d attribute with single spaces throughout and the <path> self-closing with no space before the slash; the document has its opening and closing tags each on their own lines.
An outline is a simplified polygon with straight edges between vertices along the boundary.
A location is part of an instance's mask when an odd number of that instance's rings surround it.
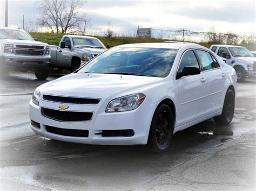
<svg viewBox="0 0 256 191">
<path fill-rule="evenodd" d="M 160 77 L 74 73 L 47 83 L 45 93 L 104 98 L 159 81 Z M 55 91 L 55 93 L 54 93 Z"/>
</svg>

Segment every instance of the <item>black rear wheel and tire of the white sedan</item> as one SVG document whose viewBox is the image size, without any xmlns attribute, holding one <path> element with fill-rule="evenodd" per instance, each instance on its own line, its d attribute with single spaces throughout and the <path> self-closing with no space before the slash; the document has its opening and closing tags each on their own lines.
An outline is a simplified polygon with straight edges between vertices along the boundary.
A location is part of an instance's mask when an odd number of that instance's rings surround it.
<svg viewBox="0 0 256 191">
<path fill-rule="evenodd" d="M 234 92 L 231 89 L 228 89 L 225 96 L 221 115 L 213 117 L 214 122 L 217 123 L 218 125 L 230 124 L 234 116 L 234 107 L 235 107 Z"/>
</svg>

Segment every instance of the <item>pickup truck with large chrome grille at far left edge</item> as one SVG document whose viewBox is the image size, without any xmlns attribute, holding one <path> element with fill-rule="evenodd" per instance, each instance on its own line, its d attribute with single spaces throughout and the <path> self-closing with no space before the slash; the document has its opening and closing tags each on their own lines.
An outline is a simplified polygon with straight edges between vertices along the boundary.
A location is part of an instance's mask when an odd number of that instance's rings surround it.
<svg viewBox="0 0 256 191">
<path fill-rule="evenodd" d="M 0 67 L 2 75 L 10 70 L 34 70 L 37 79 L 49 75 L 49 45 L 33 39 L 24 30 L 0 28 Z"/>
</svg>

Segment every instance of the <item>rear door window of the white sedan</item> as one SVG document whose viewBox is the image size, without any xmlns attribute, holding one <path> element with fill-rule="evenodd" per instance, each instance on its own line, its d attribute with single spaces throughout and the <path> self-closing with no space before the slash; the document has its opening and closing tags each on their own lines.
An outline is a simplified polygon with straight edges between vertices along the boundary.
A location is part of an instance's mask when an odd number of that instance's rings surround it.
<svg viewBox="0 0 256 191">
<path fill-rule="evenodd" d="M 206 51 L 196 50 L 199 61 L 203 65 L 204 70 L 213 69 L 215 67 L 215 61 L 213 61 L 210 53 Z"/>
</svg>

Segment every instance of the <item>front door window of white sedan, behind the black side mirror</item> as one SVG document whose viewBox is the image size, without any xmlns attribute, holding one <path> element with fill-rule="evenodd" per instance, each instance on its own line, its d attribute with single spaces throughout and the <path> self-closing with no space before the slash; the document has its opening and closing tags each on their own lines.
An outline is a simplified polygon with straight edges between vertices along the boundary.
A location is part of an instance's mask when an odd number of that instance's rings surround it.
<svg viewBox="0 0 256 191">
<path fill-rule="evenodd" d="M 188 51 L 183 55 L 183 57 L 180 61 L 178 72 L 182 72 L 182 70 L 185 66 L 193 66 L 193 67 L 197 67 L 198 69 L 200 69 L 196 55 L 194 55 L 193 51 Z"/>
</svg>

